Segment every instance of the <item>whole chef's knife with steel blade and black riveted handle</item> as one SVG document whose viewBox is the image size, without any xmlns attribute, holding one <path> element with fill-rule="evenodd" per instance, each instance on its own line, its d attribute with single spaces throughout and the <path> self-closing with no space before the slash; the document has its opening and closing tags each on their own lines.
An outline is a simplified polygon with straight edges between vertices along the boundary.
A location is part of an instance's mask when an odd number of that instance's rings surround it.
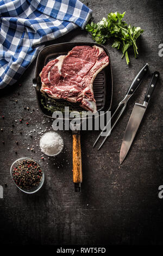
<svg viewBox="0 0 163 256">
<path fill-rule="evenodd" d="M 143 119 L 143 115 L 146 112 L 148 102 L 151 99 L 152 93 L 154 91 L 154 88 L 156 86 L 156 82 L 158 81 L 159 76 L 160 74 L 158 71 L 155 71 L 153 73 L 151 82 L 149 83 L 149 86 L 147 89 L 147 93 L 146 93 L 143 105 L 139 103 L 135 103 L 134 105 L 133 111 L 130 115 L 130 119 L 126 127 L 126 131 L 124 132 L 124 137 L 123 137 L 121 150 L 120 150 L 120 164 L 124 161 L 131 147 L 131 144 L 133 143 L 134 137 L 140 126 L 141 120 Z"/>
</svg>

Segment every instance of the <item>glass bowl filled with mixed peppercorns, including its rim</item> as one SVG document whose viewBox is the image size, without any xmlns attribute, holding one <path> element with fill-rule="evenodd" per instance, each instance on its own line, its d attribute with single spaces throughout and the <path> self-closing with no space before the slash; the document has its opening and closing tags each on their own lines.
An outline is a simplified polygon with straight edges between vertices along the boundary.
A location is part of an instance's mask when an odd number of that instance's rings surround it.
<svg viewBox="0 0 163 256">
<path fill-rule="evenodd" d="M 22 157 L 12 163 L 10 174 L 14 184 L 27 194 L 39 191 L 45 179 L 40 164 L 30 157 Z"/>
</svg>

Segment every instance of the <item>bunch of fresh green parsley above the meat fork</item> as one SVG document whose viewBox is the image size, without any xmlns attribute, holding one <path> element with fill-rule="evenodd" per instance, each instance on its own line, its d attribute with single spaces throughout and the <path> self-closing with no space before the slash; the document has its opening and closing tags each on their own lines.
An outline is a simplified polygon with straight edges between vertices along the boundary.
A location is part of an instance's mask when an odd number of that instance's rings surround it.
<svg viewBox="0 0 163 256">
<path fill-rule="evenodd" d="M 143 29 L 140 27 L 132 27 L 122 21 L 124 14 L 109 13 L 108 19 L 103 18 L 98 23 L 91 22 L 86 25 L 86 31 L 91 32 L 92 39 L 98 44 L 104 44 L 109 38 L 114 39 L 112 47 L 122 50 L 122 58 L 125 55 L 126 62 L 129 64 L 128 48 L 132 45 L 134 48 L 135 58 L 137 58 L 136 39 L 139 38 Z"/>
</svg>

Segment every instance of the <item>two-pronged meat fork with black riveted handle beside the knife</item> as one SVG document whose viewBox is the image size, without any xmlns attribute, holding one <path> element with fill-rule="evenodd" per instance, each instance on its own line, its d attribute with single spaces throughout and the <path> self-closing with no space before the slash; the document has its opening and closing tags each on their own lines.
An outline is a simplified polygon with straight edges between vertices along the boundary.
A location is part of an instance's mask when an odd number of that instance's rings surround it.
<svg viewBox="0 0 163 256">
<path fill-rule="evenodd" d="M 97 137 L 95 143 L 93 144 L 93 147 L 95 147 L 98 139 L 102 136 L 102 133 L 108 129 L 110 127 L 110 129 L 108 130 L 108 132 L 106 132 L 106 135 L 101 143 L 101 145 L 99 145 L 98 150 L 102 147 L 102 145 L 104 144 L 106 138 L 108 138 L 108 136 L 110 135 L 112 129 L 114 128 L 114 126 L 116 125 L 117 121 L 120 119 L 122 113 L 124 112 L 124 109 L 127 106 L 127 102 L 130 99 L 130 97 L 135 93 L 135 90 L 140 86 L 143 78 L 145 77 L 146 73 L 148 71 L 148 63 L 146 63 L 146 65 L 143 66 L 143 68 L 139 71 L 139 73 L 136 75 L 136 77 L 134 78 L 133 82 L 131 83 L 131 86 L 129 87 L 127 94 L 124 96 L 123 100 L 118 104 L 115 112 L 112 114 L 110 120 L 108 121 L 108 123 L 105 125 L 104 129 L 101 131 L 101 133 L 99 133 L 99 136 Z M 118 111 L 120 111 L 118 113 Z M 110 126 L 111 123 L 111 119 L 114 117 L 114 115 L 118 113 L 117 118 L 115 119 L 114 123 Z"/>
</svg>

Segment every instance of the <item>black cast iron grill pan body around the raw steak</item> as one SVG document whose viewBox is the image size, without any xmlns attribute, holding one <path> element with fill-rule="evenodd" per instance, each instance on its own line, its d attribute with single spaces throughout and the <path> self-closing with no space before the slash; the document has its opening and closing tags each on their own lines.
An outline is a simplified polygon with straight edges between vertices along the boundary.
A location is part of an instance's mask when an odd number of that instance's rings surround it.
<svg viewBox="0 0 163 256">
<path fill-rule="evenodd" d="M 77 45 L 97 45 L 102 47 L 106 54 L 109 56 L 108 50 L 99 44 L 90 43 L 90 42 L 67 42 L 63 44 L 57 45 L 50 45 L 43 48 L 38 57 L 36 63 L 36 74 L 33 80 L 34 87 L 36 88 L 36 96 L 37 102 L 43 114 L 47 115 L 48 117 L 52 118 L 52 112 L 48 111 L 45 107 L 43 107 L 41 100 L 45 106 L 50 105 L 53 106 L 53 103 L 48 101 L 46 97 L 42 96 L 40 92 L 41 89 L 41 78 L 39 76 L 43 66 L 45 66 L 50 60 L 57 58 L 60 55 L 66 55 L 68 51 L 71 51 L 74 46 Z M 111 107 L 111 100 L 112 100 L 112 72 L 111 72 L 111 64 L 110 64 L 110 56 L 109 56 L 109 65 L 106 66 L 101 72 L 98 73 L 95 80 L 93 81 L 93 93 L 96 100 L 97 110 L 98 111 L 106 111 L 109 110 Z M 59 102 L 65 102 L 64 99 L 57 99 Z M 83 108 L 79 106 L 79 103 L 70 102 L 71 106 L 73 107 L 74 111 L 84 111 Z"/>
</svg>

